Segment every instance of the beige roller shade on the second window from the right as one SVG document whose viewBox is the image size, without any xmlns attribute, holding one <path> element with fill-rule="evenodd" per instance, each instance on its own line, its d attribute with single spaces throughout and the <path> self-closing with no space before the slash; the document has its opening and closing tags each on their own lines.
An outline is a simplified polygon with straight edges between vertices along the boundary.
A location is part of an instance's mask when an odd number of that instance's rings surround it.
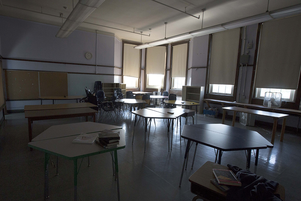
<svg viewBox="0 0 301 201">
<path fill-rule="evenodd" d="M 235 83 L 240 29 L 212 34 L 209 84 Z"/>
</svg>

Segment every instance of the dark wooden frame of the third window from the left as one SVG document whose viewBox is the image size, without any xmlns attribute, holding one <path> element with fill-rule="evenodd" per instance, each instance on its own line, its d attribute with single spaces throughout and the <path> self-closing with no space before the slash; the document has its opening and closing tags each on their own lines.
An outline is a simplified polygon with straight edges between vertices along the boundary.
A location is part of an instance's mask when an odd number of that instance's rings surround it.
<svg viewBox="0 0 301 201">
<path fill-rule="evenodd" d="M 172 49 L 173 49 L 173 46 L 187 43 L 187 59 L 186 59 L 186 75 L 185 75 L 185 85 L 187 85 L 189 42 L 190 42 L 190 40 L 174 42 L 174 43 L 171 43 L 171 46 L 170 46 L 169 87 L 168 88 L 169 88 L 170 93 L 175 93 L 177 96 L 182 96 L 182 89 L 172 89 L 172 77 L 171 77 L 171 75 L 172 75 Z"/>
</svg>

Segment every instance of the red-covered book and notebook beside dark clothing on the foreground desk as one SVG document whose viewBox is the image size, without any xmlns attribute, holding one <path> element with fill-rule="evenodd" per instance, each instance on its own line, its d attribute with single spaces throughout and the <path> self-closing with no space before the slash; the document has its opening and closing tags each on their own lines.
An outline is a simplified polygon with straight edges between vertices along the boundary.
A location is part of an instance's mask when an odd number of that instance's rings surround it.
<svg viewBox="0 0 301 201">
<path fill-rule="evenodd" d="M 241 186 L 240 181 L 231 170 L 213 169 L 215 179 L 210 181 L 223 192 L 229 190 L 229 186 Z"/>
</svg>

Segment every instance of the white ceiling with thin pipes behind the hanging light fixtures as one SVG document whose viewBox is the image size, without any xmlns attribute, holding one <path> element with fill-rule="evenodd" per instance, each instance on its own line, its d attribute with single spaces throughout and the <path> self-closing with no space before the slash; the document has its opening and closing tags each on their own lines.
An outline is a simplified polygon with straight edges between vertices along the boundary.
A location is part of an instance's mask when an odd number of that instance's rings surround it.
<svg viewBox="0 0 301 201">
<path fill-rule="evenodd" d="M 204 11 L 203 28 L 222 24 L 232 20 L 264 13 L 268 0 L 157 0 L 177 8 L 200 19 L 176 11 L 151 0 L 106 0 L 77 29 L 94 32 L 99 30 L 119 39 L 141 41 L 142 43 L 165 37 L 187 33 L 202 27 L 202 9 Z M 2 6 L 1 6 L 2 2 Z M 78 0 L 0 0 L 0 15 L 30 20 L 61 27 L 63 21 Z M 301 3 L 301 0 L 270 0 L 269 11 Z M 63 7 L 67 7 L 67 9 Z M 98 26 L 102 25 L 102 26 Z M 107 26 L 107 27 L 103 27 Z M 113 27 L 116 29 L 108 28 Z M 126 32 L 127 30 L 135 33 Z M 149 30 L 151 29 L 151 30 Z M 72 34 L 72 33 L 71 33 Z"/>
</svg>

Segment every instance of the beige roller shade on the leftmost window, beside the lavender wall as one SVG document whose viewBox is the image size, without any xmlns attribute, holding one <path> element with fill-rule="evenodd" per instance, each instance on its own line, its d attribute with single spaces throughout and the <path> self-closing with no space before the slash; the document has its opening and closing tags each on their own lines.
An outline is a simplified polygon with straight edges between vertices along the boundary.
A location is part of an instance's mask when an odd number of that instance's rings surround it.
<svg viewBox="0 0 301 201">
<path fill-rule="evenodd" d="M 139 77 L 140 49 L 135 45 L 124 44 L 123 49 L 123 75 Z"/>
</svg>

